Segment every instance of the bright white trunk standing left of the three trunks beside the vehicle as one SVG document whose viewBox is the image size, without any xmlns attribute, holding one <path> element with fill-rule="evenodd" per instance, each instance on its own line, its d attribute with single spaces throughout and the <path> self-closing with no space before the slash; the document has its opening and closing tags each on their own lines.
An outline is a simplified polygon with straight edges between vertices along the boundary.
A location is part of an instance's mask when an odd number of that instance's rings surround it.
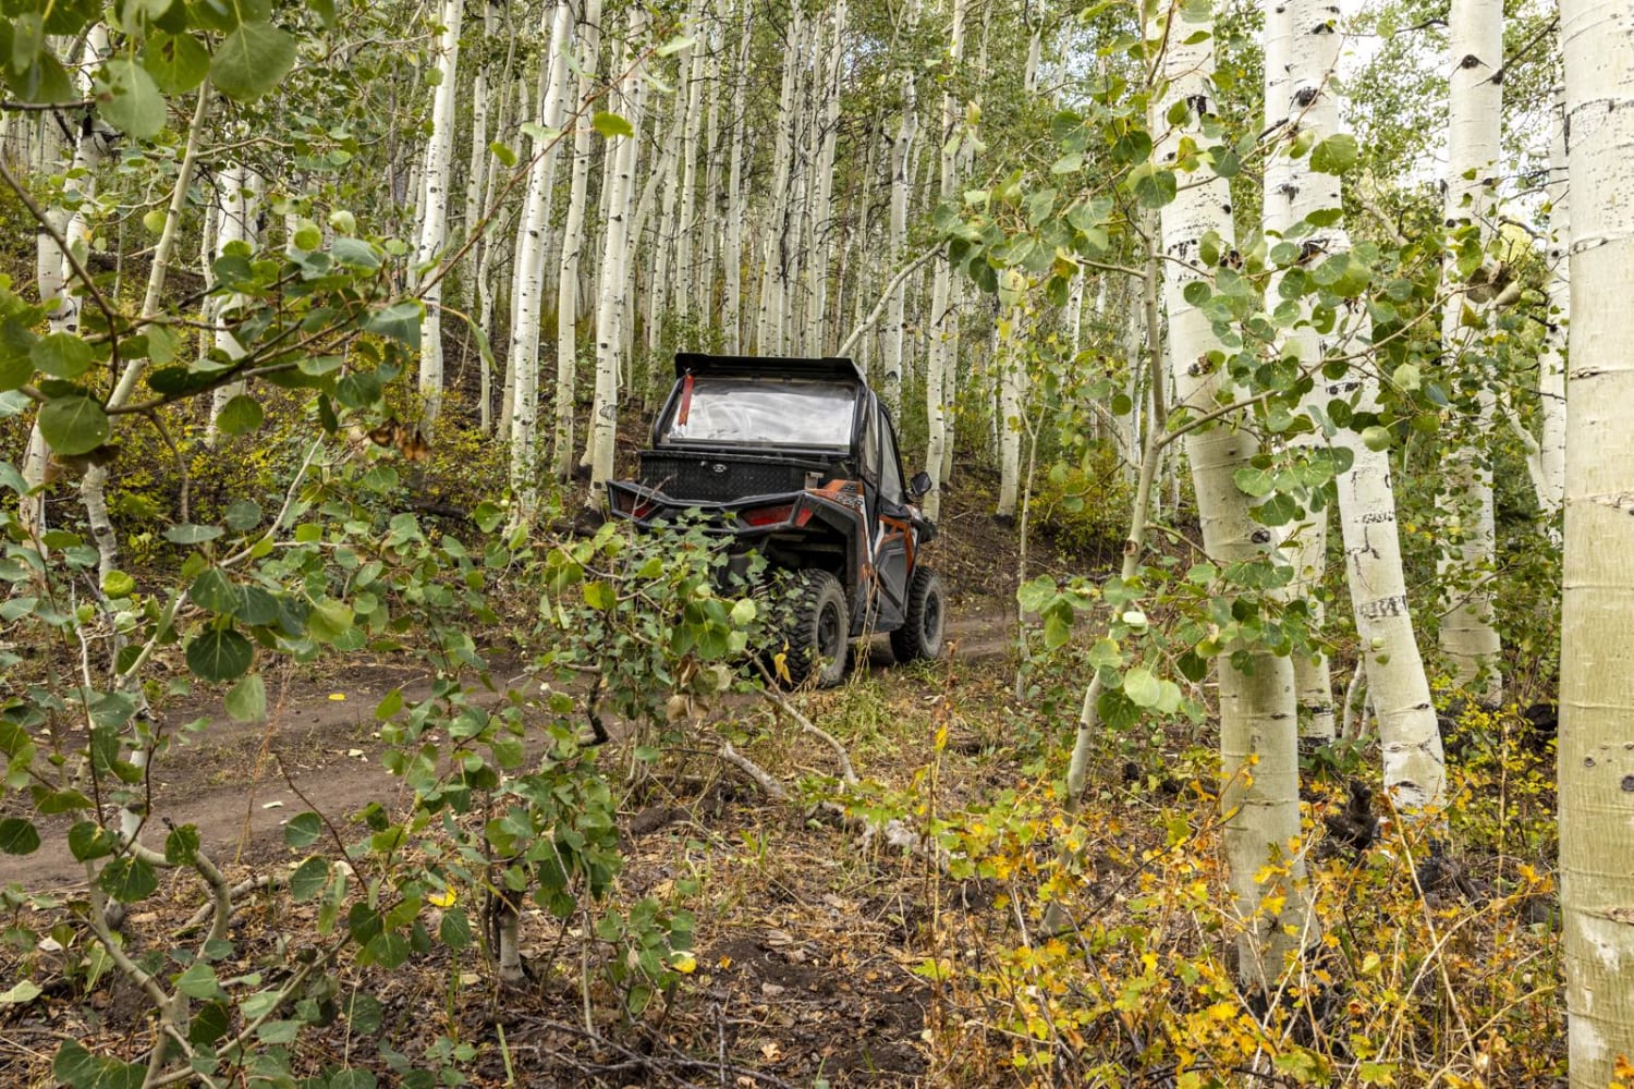
<svg viewBox="0 0 1634 1089">
<path fill-rule="evenodd" d="M 425 274 L 448 245 L 448 176 L 454 162 L 454 104 L 459 93 L 459 20 L 464 0 L 443 0 L 436 36 L 436 72 L 443 82 L 436 85 L 431 106 L 431 140 L 425 149 L 425 209 L 420 222 L 420 245 L 415 263 Z M 425 398 L 422 426 L 436 423 L 443 400 L 443 278 L 436 278 L 420 292 L 425 317 L 420 320 L 420 397 Z"/>
</svg>

